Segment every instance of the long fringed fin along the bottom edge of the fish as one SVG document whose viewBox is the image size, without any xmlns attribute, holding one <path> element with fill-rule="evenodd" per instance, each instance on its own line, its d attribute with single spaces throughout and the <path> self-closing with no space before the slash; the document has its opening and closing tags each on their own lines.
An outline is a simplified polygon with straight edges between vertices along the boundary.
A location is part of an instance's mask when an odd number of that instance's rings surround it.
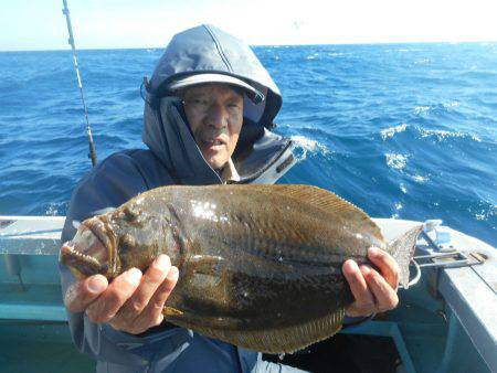
<svg viewBox="0 0 497 373">
<path fill-rule="evenodd" d="M 265 353 L 292 353 L 336 334 L 341 329 L 343 318 L 345 308 L 340 308 L 321 319 L 274 330 L 192 328 L 181 321 L 177 323 L 177 320 L 172 320 L 171 322 L 248 350 Z"/>
</svg>

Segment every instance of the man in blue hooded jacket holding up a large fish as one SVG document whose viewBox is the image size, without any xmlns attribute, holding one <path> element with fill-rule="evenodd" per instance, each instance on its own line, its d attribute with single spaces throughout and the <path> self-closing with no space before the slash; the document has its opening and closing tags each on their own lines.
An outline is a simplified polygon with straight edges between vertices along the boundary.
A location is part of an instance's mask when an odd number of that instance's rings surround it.
<svg viewBox="0 0 497 373">
<path fill-rule="evenodd" d="M 144 142 L 101 162 L 76 186 L 62 241 L 78 221 L 168 184 L 275 182 L 294 160 L 290 142 L 273 132 L 279 92 L 247 45 L 213 26 L 177 34 L 146 82 Z M 369 256 L 381 275 L 349 260 L 343 273 L 356 302 L 349 317 L 396 306 L 398 269 L 384 252 Z M 178 268 L 159 256 L 146 273 L 130 269 L 108 284 L 75 281 L 61 266 L 71 332 L 99 372 L 255 372 L 286 369 L 261 354 L 176 328 L 162 307 Z M 290 370 L 288 367 L 288 370 Z"/>
</svg>

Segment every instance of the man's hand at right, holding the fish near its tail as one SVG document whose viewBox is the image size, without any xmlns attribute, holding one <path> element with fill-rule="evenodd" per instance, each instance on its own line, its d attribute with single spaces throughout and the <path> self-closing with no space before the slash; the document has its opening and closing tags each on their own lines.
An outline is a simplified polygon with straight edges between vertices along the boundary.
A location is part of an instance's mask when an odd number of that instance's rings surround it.
<svg viewBox="0 0 497 373">
<path fill-rule="evenodd" d="M 343 263 L 343 275 L 349 283 L 356 301 L 346 309 L 349 317 L 370 316 L 396 307 L 399 297 L 399 265 L 384 251 L 370 247 L 369 259 L 378 267 L 381 275 L 367 265 L 360 267 L 353 260 Z"/>
</svg>

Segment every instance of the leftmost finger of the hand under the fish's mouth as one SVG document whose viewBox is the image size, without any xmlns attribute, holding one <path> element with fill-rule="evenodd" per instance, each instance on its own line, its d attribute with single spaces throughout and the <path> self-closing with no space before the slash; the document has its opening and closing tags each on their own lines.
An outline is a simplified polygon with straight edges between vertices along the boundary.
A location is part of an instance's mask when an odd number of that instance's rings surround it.
<svg viewBox="0 0 497 373">
<path fill-rule="evenodd" d="M 70 312 L 83 312 L 108 287 L 107 279 L 102 275 L 91 276 L 74 283 L 67 288 L 64 305 Z"/>
</svg>

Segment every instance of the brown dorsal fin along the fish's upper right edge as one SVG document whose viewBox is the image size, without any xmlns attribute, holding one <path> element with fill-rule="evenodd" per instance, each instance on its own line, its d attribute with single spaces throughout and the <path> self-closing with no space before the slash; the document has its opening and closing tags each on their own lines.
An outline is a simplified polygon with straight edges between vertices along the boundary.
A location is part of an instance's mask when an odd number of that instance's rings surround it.
<svg viewBox="0 0 497 373">
<path fill-rule="evenodd" d="M 311 185 L 277 184 L 277 185 L 251 185 L 266 193 L 276 193 L 295 199 L 300 203 L 309 204 L 326 213 L 341 216 L 346 221 L 355 222 L 367 230 L 380 242 L 384 242 L 379 226 L 369 215 L 352 203 L 343 200 L 334 192 Z"/>
</svg>

